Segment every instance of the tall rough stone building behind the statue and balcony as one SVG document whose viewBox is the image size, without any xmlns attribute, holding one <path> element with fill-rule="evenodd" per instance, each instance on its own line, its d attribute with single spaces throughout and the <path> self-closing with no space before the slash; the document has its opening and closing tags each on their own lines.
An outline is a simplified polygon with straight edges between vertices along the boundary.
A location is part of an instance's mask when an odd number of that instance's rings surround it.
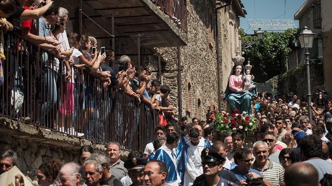
<svg viewBox="0 0 332 186">
<path fill-rule="evenodd" d="M 216 10 L 221 6 L 225 7 Z M 208 106 L 214 105 L 216 109 L 218 108 L 217 61 L 220 70 L 220 102 L 223 103 L 222 109 L 226 109 L 226 104 L 222 101 L 223 92 L 226 90 L 228 77 L 233 67 L 231 58 L 236 55 L 237 50 L 240 52 L 241 48 L 239 16 L 245 16 L 246 11 L 243 8 L 241 1 L 237 0 L 229 6 L 221 1 L 187 1 L 187 45 L 179 48 L 160 48 L 167 59 L 172 59 L 167 61 L 166 70 L 179 67 L 176 55 L 180 53 L 181 56 L 181 95 L 171 96 L 171 98 L 173 105 L 181 104 L 182 116 L 205 120 Z M 217 17 L 215 17 L 215 11 L 217 11 Z M 215 33 L 216 22 L 217 34 Z M 176 95 L 180 88 L 175 78 L 176 71 L 163 74 L 163 82 L 172 87 L 172 95 Z M 180 102 L 179 96 L 182 96 Z"/>
</svg>

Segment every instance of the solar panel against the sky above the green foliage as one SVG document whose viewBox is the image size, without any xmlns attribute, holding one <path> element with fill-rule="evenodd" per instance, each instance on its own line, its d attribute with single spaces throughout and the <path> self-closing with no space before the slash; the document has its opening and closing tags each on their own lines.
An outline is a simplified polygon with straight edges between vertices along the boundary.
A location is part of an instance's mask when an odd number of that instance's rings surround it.
<svg viewBox="0 0 332 186">
<path fill-rule="evenodd" d="M 293 20 L 284 19 L 248 19 L 249 25 L 253 31 L 284 31 L 287 29 L 296 29 Z"/>
</svg>

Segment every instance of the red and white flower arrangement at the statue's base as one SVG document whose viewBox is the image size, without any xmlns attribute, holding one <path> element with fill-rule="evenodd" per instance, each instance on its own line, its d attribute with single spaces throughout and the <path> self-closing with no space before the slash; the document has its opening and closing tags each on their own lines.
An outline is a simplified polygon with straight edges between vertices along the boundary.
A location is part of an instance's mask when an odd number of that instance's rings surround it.
<svg viewBox="0 0 332 186">
<path fill-rule="evenodd" d="M 230 132 L 241 129 L 246 135 L 252 135 L 254 130 L 257 129 L 257 119 L 250 117 L 246 112 L 239 113 L 239 110 L 235 110 L 235 113 L 223 114 L 217 111 L 212 111 L 213 123 L 216 130 L 220 131 L 221 134 L 229 134 Z"/>
</svg>

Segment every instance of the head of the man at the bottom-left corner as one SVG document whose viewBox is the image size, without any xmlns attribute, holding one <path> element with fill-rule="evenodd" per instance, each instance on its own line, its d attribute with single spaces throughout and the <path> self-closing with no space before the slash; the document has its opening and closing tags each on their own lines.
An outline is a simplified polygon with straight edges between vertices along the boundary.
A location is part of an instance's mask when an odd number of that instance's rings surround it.
<svg viewBox="0 0 332 186">
<path fill-rule="evenodd" d="M 17 166 L 18 156 L 16 152 L 7 150 L 0 156 L 0 174 L 9 171 L 12 167 Z"/>
</svg>

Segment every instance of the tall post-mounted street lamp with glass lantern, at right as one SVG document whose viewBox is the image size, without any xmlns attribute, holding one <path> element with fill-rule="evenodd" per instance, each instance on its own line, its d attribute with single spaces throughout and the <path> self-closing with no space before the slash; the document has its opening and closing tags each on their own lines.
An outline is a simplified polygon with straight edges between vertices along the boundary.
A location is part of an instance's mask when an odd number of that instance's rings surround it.
<svg viewBox="0 0 332 186">
<path fill-rule="evenodd" d="M 310 90 L 310 63 L 309 63 L 309 48 L 313 47 L 313 41 L 314 41 L 315 33 L 313 33 L 311 30 L 308 30 L 306 26 L 304 26 L 303 31 L 300 32 L 300 34 L 297 36 L 301 48 L 305 49 L 305 65 L 306 65 L 306 81 L 307 81 L 307 87 L 308 87 L 308 116 L 309 116 L 309 122 L 312 122 L 312 111 L 311 111 L 311 90 Z"/>
</svg>

